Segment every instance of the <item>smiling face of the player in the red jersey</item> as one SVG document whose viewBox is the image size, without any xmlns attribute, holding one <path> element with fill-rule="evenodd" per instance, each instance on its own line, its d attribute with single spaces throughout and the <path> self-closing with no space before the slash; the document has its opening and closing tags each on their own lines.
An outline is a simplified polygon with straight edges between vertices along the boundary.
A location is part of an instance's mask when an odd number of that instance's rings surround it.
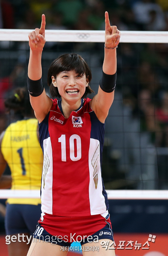
<svg viewBox="0 0 168 256">
<path fill-rule="evenodd" d="M 86 75 L 77 74 L 74 70 L 62 71 L 55 78 L 52 76 L 53 86 L 58 88 L 60 96 L 66 101 L 78 101 L 88 86 Z"/>
</svg>

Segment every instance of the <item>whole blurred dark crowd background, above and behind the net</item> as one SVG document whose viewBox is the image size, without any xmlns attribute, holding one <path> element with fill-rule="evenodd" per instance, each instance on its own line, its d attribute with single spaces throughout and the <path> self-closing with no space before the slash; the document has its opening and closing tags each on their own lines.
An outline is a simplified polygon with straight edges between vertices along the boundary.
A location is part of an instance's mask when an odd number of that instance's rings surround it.
<svg viewBox="0 0 168 256">
<path fill-rule="evenodd" d="M 44 13 L 46 29 L 104 30 L 105 11 L 119 30 L 168 31 L 168 0 L 1 0 L 0 28 L 35 29 Z M 50 63 L 72 51 L 90 66 L 96 93 L 103 43 L 46 42 L 46 91 Z M 13 89 L 26 86 L 28 58 L 28 42 L 0 41 L 1 131 L 18 118 L 6 116 L 3 102 Z M 115 101 L 105 123 L 105 188 L 168 189 L 168 44 L 120 43 L 117 59 Z"/>
</svg>

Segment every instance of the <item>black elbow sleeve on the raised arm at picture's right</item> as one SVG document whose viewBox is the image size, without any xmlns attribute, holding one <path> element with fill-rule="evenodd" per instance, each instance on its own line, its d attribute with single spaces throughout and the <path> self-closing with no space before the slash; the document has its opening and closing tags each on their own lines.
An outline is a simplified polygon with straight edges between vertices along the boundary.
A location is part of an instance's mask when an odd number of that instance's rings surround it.
<svg viewBox="0 0 168 256">
<path fill-rule="evenodd" d="M 102 79 L 100 80 L 100 88 L 104 92 L 113 92 L 116 84 L 116 73 L 113 75 L 107 75 L 103 72 Z"/>
</svg>

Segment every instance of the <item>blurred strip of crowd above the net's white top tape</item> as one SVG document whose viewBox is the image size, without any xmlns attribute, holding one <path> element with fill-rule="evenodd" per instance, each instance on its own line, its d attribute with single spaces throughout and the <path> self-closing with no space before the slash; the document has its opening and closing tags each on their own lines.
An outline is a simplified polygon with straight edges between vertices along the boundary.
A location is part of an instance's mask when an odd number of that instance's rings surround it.
<svg viewBox="0 0 168 256">
<path fill-rule="evenodd" d="M 104 14 L 119 30 L 166 31 L 167 0 L 1 0 L 0 28 L 34 29 L 45 13 L 46 29 L 104 29 Z"/>
</svg>

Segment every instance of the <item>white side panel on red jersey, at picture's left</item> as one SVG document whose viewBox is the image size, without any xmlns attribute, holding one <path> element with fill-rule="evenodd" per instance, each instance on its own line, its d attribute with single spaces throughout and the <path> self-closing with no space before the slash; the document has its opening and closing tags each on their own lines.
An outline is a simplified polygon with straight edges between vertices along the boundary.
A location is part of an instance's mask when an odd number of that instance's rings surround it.
<svg viewBox="0 0 168 256">
<path fill-rule="evenodd" d="M 43 141 L 44 162 L 41 179 L 41 211 L 53 214 L 53 153 L 50 137 Z"/>
</svg>

